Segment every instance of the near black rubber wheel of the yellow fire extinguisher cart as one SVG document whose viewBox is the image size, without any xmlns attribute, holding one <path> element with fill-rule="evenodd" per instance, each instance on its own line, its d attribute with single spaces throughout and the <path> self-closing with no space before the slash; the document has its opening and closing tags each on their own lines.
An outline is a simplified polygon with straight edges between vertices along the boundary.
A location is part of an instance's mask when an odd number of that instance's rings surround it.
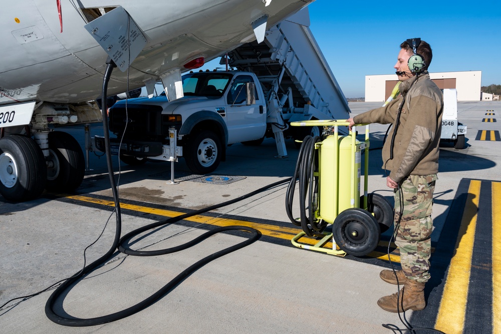
<svg viewBox="0 0 501 334">
<path fill-rule="evenodd" d="M 381 230 L 374 216 L 363 209 L 342 211 L 332 224 L 336 244 L 347 254 L 364 256 L 376 249 Z"/>
</svg>

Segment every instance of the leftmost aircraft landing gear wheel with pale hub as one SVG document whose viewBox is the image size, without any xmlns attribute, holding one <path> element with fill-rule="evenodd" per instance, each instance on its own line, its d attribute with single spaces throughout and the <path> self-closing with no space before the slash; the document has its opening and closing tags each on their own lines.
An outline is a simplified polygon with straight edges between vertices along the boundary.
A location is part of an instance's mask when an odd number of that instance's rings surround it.
<svg viewBox="0 0 501 334">
<path fill-rule="evenodd" d="M 44 154 L 35 141 L 11 135 L 0 139 L 0 194 L 15 202 L 42 194 L 47 182 Z"/>
</svg>

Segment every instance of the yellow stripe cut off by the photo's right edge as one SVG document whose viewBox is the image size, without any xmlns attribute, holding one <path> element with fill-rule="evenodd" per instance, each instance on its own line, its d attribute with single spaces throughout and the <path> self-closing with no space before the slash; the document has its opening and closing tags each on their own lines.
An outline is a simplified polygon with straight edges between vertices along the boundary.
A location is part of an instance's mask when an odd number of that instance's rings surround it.
<svg viewBox="0 0 501 334">
<path fill-rule="evenodd" d="M 492 182 L 492 334 L 501 334 L 501 182 Z"/>
</svg>

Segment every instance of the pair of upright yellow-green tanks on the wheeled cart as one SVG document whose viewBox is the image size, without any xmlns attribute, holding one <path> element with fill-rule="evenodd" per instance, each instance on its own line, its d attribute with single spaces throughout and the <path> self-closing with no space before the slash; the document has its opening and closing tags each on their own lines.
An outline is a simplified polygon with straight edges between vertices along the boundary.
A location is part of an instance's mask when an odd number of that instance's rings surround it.
<svg viewBox="0 0 501 334">
<path fill-rule="evenodd" d="M 358 207 L 360 202 L 360 142 L 357 140 L 355 143 L 354 158 L 352 157 L 351 135 L 339 136 L 337 143 L 334 136 L 329 136 L 322 141 L 319 149 L 320 216 L 331 224 L 341 211 Z M 338 152 L 337 165 L 336 151 Z M 351 173 L 353 169 L 355 169 L 355 194 L 352 203 Z M 338 181 L 337 187 L 336 180 Z"/>
</svg>

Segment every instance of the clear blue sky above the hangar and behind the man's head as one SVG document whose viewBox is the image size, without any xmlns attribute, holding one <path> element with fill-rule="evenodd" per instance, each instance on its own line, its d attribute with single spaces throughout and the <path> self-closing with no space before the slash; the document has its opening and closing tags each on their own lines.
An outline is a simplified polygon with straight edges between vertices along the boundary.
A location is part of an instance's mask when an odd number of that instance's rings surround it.
<svg viewBox="0 0 501 334">
<path fill-rule="evenodd" d="M 310 29 L 353 98 L 365 96 L 366 75 L 394 73 L 400 43 L 416 37 L 431 45 L 430 72 L 482 71 L 482 86 L 501 85 L 501 8 L 492 4 L 317 0 L 308 7 Z"/>
</svg>

